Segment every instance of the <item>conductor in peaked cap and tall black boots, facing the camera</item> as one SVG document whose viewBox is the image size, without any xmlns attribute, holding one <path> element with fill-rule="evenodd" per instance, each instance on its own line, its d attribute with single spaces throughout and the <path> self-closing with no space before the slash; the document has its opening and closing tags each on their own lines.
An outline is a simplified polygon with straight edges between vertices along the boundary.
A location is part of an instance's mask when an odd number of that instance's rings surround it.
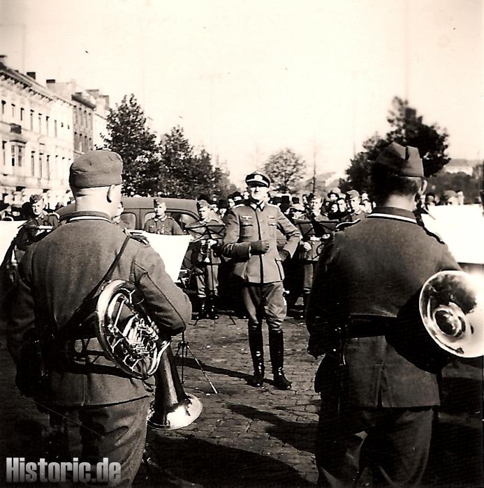
<svg viewBox="0 0 484 488">
<path fill-rule="evenodd" d="M 269 328 L 269 351 L 274 385 L 289 390 L 291 382 L 284 376 L 284 335 L 286 317 L 283 296 L 282 261 L 291 257 L 300 233 L 277 206 L 267 204 L 270 179 L 261 173 L 245 178 L 249 201 L 231 208 L 226 214 L 226 234 L 222 254 L 235 259 L 234 275 L 244 280 L 242 296 L 249 316 L 249 346 L 254 363 L 254 386 L 264 379 L 262 321 Z M 277 251 L 277 229 L 286 235 L 284 248 Z"/>
</svg>

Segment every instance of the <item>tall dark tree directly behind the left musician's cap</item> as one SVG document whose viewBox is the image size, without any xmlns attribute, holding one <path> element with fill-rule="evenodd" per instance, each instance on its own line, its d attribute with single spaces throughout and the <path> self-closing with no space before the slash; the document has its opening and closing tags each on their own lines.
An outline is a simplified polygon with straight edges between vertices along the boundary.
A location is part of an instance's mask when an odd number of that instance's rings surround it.
<svg viewBox="0 0 484 488">
<path fill-rule="evenodd" d="M 159 155 L 155 135 L 149 131 L 142 108 L 133 94 L 108 114 L 105 148 L 123 158 L 123 191 L 126 195 L 150 195 L 154 192 Z"/>
</svg>

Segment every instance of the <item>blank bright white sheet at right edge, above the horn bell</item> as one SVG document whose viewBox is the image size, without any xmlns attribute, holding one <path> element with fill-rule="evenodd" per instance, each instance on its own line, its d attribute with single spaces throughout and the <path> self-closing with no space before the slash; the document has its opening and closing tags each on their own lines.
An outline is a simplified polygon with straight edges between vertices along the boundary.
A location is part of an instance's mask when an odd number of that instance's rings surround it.
<svg viewBox="0 0 484 488">
<path fill-rule="evenodd" d="M 425 227 L 440 236 L 458 263 L 484 264 L 484 216 L 479 205 L 431 206 Z"/>
</svg>

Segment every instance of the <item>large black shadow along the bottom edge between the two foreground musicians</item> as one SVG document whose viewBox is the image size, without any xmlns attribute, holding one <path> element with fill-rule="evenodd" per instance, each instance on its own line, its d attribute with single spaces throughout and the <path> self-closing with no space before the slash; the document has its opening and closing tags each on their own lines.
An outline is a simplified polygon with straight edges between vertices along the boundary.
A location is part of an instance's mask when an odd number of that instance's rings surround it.
<svg viewBox="0 0 484 488">
<path fill-rule="evenodd" d="M 246 450 L 212 444 L 193 436 L 163 437 L 151 433 L 147 454 L 168 472 L 138 473 L 135 486 L 203 487 L 311 487 L 311 483 L 284 462 Z M 145 474 L 147 473 L 147 479 Z"/>
</svg>

